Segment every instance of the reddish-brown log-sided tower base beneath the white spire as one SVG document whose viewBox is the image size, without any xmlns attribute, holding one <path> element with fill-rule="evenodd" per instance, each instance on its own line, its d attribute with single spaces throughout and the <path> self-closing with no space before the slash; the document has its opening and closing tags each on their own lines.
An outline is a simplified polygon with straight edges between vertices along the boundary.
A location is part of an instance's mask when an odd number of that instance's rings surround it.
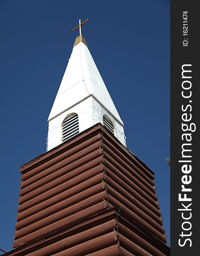
<svg viewBox="0 0 200 256">
<path fill-rule="evenodd" d="M 169 255 L 154 173 L 97 124 L 21 166 L 5 256 Z"/>
</svg>

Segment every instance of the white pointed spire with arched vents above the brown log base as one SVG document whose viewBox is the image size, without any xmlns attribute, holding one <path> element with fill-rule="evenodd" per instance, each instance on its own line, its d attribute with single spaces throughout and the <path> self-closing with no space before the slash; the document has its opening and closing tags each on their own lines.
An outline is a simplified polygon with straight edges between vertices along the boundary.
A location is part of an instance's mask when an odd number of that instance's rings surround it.
<svg viewBox="0 0 200 256">
<path fill-rule="evenodd" d="M 48 122 L 48 151 L 99 122 L 126 145 L 123 122 L 82 35 L 74 43 Z"/>
</svg>

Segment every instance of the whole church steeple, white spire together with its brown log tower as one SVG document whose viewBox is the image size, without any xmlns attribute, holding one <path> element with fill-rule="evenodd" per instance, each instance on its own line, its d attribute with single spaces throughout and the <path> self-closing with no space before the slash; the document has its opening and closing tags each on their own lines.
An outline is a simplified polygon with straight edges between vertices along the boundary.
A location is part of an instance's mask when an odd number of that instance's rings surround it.
<svg viewBox="0 0 200 256">
<path fill-rule="evenodd" d="M 77 40 L 49 115 L 55 148 L 21 166 L 5 256 L 169 256 L 154 173 L 122 145 L 123 122 Z"/>
</svg>

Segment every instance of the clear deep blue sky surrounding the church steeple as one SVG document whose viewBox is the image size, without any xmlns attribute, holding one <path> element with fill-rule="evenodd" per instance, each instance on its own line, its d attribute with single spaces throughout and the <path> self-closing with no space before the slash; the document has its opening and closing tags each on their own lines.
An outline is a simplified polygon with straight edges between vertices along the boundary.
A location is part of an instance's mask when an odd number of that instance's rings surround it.
<svg viewBox="0 0 200 256">
<path fill-rule="evenodd" d="M 155 172 L 170 236 L 169 0 L 0 0 L 0 247 L 12 249 L 20 166 L 46 151 L 47 118 L 82 21 L 125 124 L 127 146 Z M 1 255 L 1 253 L 0 253 Z"/>
</svg>

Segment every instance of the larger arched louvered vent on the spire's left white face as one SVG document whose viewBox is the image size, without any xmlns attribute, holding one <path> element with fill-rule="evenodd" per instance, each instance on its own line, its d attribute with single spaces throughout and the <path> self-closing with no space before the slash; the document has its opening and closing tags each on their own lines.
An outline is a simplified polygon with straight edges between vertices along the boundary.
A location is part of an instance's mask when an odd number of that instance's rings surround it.
<svg viewBox="0 0 200 256">
<path fill-rule="evenodd" d="M 69 140 L 79 133 L 78 115 L 76 113 L 67 116 L 62 125 L 62 142 Z"/>
</svg>

